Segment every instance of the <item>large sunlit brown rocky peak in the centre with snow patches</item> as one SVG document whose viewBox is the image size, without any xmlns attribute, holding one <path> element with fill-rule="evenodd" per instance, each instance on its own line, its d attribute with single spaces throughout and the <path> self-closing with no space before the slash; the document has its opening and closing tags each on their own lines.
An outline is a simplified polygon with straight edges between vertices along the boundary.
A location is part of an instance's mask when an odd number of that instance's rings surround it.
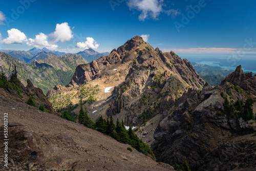
<svg viewBox="0 0 256 171">
<path fill-rule="evenodd" d="M 47 97 L 56 110 L 73 105 L 72 111 L 78 114 L 76 104 L 82 99 L 94 120 L 112 114 L 125 125 L 139 126 L 170 113 L 183 93 L 189 88 L 202 89 L 203 85 L 186 59 L 153 49 L 136 36 L 109 56 L 79 65 L 72 82 L 66 87 L 55 86 Z M 148 136 L 150 144 L 153 135 Z"/>
</svg>

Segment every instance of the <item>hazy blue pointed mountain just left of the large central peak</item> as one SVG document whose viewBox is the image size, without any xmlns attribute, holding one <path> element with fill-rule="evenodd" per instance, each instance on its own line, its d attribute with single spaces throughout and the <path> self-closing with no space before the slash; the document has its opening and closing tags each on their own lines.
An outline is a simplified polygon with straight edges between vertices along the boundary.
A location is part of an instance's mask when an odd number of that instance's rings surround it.
<svg viewBox="0 0 256 171">
<path fill-rule="evenodd" d="M 104 53 L 99 53 L 93 49 L 87 49 L 81 52 L 76 53 L 78 55 L 81 55 L 84 59 L 86 59 L 87 61 L 91 62 L 93 60 L 98 59 L 101 56 L 107 56 L 110 53 L 109 52 L 104 52 Z"/>
</svg>

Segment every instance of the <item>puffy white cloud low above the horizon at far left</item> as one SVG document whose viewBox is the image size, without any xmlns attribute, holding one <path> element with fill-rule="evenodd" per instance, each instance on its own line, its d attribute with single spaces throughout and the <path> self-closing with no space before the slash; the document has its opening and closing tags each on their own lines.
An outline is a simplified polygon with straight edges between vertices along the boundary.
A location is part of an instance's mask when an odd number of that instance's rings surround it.
<svg viewBox="0 0 256 171">
<path fill-rule="evenodd" d="M 8 30 L 8 37 L 1 41 L 2 44 L 22 44 L 27 41 L 27 36 L 18 29 Z"/>
</svg>

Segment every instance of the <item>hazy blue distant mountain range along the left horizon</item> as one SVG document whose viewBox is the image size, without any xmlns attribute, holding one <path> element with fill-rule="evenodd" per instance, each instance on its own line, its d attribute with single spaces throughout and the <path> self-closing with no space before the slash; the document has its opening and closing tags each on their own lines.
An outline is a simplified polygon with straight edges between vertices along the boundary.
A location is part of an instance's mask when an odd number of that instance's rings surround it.
<svg viewBox="0 0 256 171">
<path fill-rule="evenodd" d="M 47 48 L 42 48 L 42 49 L 33 48 L 28 51 L 0 50 L 0 52 L 7 53 L 7 54 L 11 55 L 11 57 L 18 58 L 19 60 L 24 61 L 28 64 L 30 64 L 34 60 L 45 59 L 45 58 L 48 58 L 53 55 L 59 57 L 61 55 L 67 54 L 65 52 L 52 51 Z M 75 54 L 81 55 L 84 59 L 91 62 L 101 56 L 107 56 L 110 53 L 109 52 L 99 53 L 90 48 L 90 49 L 87 49 L 87 50 L 84 50 L 84 51 L 81 51 L 81 52 L 78 52 Z"/>
</svg>

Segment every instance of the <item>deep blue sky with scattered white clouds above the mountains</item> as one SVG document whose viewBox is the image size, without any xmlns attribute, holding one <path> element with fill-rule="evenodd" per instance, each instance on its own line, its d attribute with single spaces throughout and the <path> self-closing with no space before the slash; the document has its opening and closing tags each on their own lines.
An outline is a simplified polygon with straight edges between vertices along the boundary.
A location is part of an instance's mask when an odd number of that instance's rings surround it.
<svg viewBox="0 0 256 171">
<path fill-rule="evenodd" d="M 185 57 L 255 57 L 255 6 L 252 0 L 2 1 L 0 49 L 110 52 L 147 35 L 154 48 Z"/>
</svg>

